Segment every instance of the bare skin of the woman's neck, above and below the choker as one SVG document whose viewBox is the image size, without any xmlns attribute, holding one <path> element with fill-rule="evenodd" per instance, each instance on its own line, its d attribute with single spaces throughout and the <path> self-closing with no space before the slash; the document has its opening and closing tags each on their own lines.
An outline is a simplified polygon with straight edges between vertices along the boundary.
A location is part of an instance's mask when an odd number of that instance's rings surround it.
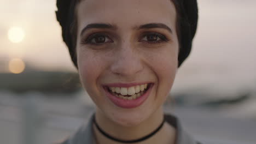
<svg viewBox="0 0 256 144">
<path fill-rule="evenodd" d="M 123 126 L 111 121 L 109 118 L 105 117 L 101 111 L 96 111 L 96 122 L 108 135 L 115 137 L 120 140 L 137 140 L 150 134 L 152 131 L 157 129 L 162 123 L 164 118 L 164 113 L 162 109 L 157 110 L 152 116 L 147 118 L 145 121 L 132 126 Z M 108 139 L 106 136 L 102 135 L 100 131 L 97 130 L 94 125 L 94 133 L 97 144 L 118 144 L 119 142 Z M 149 139 L 139 142 L 143 143 L 174 143 L 175 130 L 167 123 L 164 123 L 163 127 Z"/>
</svg>

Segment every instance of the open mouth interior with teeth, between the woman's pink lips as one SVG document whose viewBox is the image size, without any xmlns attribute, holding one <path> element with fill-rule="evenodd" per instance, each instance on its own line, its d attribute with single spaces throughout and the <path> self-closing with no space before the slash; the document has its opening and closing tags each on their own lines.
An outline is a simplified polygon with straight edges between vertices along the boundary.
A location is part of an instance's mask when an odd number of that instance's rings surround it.
<svg viewBox="0 0 256 144">
<path fill-rule="evenodd" d="M 144 85 L 137 85 L 133 87 L 107 87 L 108 92 L 114 95 L 115 97 L 125 99 L 125 100 L 134 100 L 148 91 L 152 83 L 147 83 Z"/>
</svg>

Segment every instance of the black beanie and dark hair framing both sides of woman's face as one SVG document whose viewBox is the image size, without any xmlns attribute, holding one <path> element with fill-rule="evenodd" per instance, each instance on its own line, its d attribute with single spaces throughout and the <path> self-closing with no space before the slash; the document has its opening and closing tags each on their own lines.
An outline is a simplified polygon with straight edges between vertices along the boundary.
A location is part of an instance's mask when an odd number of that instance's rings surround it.
<svg viewBox="0 0 256 144">
<path fill-rule="evenodd" d="M 75 67 L 77 55 L 77 5 L 83 0 L 57 0 L 57 21 L 62 27 L 62 38 L 66 43 Z M 176 30 L 179 41 L 178 67 L 189 56 L 197 29 L 198 8 L 196 0 L 170 0 L 176 8 Z"/>
</svg>

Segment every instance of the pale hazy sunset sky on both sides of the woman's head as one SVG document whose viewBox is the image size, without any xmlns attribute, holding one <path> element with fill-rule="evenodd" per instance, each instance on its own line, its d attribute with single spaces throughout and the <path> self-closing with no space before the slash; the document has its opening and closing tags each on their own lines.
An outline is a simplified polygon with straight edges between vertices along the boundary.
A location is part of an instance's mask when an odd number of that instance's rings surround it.
<svg viewBox="0 0 256 144">
<path fill-rule="evenodd" d="M 0 64 L 20 58 L 40 70 L 74 70 L 55 18 L 55 3 L 54 0 L 0 0 Z M 256 83 L 256 1 L 199 0 L 198 3 L 200 20 L 193 51 L 179 75 L 219 74 L 230 76 L 230 80 L 235 77 Z M 12 27 L 24 32 L 20 43 L 8 39 Z"/>
</svg>

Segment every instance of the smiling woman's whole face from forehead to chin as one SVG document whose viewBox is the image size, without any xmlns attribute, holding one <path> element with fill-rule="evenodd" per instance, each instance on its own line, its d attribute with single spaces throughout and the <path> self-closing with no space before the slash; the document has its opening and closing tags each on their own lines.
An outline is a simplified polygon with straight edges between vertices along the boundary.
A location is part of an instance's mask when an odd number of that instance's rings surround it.
<svg viewBox="0 0 256 144">
<path fill-rule="evenodd" d="M 85 0 L 77 6 L 77 19 L 80 79 L 102 115 L 121 125 L 152 116 L 177 70 L 173 3 Z"/>
</svg>

